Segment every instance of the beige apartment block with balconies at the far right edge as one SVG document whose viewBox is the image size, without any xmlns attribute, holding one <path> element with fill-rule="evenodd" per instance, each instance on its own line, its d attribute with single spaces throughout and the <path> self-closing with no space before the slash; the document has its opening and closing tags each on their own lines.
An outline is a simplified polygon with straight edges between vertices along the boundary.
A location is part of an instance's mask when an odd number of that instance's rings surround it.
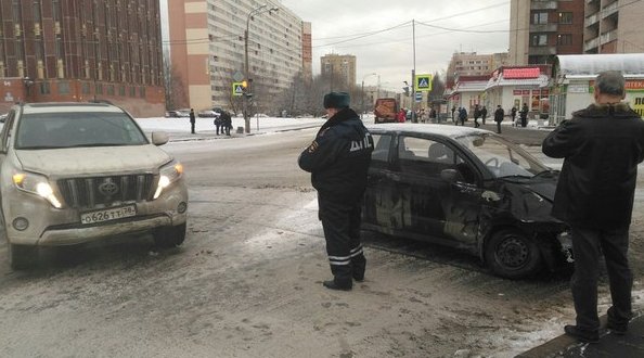
<svg viewBox="0 0 644 358">
<path fill-rule="evenodd" d="M 584 53 L 644 52 L 644 2 L 633 0 L 585 1 Z"/>
</svg>

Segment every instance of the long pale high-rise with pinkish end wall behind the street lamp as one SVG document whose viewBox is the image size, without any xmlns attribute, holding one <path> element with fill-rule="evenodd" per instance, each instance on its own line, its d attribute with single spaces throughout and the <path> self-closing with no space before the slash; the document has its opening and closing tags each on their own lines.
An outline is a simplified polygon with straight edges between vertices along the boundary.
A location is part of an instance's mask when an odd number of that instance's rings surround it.
<svg viewBox="0 0 644 358">
<path fill-rule="evenodd" d="M 233 107 L 240 98 L 232 84 L 242 79 L 252 81 L 254 103 L 266 106 L 312 76 L 310 23 L 281 3 L 171 0 L 168 12 L 171 65 L 195 110 Z"/>
</svg>

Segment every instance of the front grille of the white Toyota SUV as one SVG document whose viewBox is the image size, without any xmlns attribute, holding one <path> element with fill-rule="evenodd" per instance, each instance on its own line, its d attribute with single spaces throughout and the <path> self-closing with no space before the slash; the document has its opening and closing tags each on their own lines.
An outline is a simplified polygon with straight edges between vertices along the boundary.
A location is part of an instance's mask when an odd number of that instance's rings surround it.
<svg viewBox="0 0 644 358">
<path fill-rule="evenodd" d="M 145 201 L 152 196 L 152 174 L 60 179 L 59 190 L 68 207 L 93 208 L 115 202 Z"/>
</svg>

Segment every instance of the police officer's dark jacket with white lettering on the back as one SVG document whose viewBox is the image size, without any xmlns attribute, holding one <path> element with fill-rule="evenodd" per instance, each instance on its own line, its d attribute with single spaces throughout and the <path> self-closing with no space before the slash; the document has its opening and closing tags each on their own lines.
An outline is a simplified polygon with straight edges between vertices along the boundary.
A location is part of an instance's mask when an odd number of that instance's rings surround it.
<svg viewBox="0 0 644 358">
<path fill-rule="evenodd" d="M 373 139 L 353 110 L 329 118 L 315 140 L 299 155 L 299 167 L 311 172 L 318 194 L 334 202 L 362 200 L 371 164 Z"/>
</svg>

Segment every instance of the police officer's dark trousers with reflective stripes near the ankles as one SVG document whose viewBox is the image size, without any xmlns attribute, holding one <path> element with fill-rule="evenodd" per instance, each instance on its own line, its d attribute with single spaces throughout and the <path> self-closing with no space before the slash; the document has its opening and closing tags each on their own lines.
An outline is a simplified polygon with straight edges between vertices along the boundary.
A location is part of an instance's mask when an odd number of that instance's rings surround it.
<svg viewBox="0 0 644 358">
<path fill-rule="evenodd" d="M 339 203 L 321 196 L 318 202 L 331 273 L 336 284 L 351 286 L 352 278 L 364 277 L 366 265 L 360 243 L 361 203 Z"/>
</svg>

